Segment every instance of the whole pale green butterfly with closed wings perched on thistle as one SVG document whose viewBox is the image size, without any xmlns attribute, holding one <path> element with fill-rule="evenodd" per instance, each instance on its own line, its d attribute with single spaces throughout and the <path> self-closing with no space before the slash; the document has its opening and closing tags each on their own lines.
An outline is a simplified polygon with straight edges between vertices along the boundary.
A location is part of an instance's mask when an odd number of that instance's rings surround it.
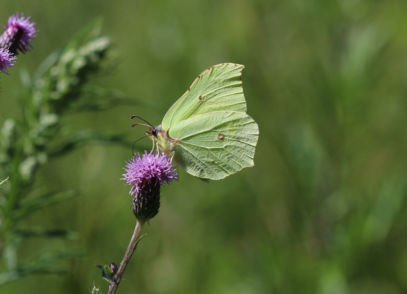
<svg viewBox="0 0 407 294">
<path fill-rule="evenodd" d="M 146 131 L 153 149 L 157 143 L 159 150 L 203 180 L 220 180 L 254 166 L 258 125 L 246 114 L 243 68 L 222 63 L 198 75 L 161 125 Z"/>
</svg>

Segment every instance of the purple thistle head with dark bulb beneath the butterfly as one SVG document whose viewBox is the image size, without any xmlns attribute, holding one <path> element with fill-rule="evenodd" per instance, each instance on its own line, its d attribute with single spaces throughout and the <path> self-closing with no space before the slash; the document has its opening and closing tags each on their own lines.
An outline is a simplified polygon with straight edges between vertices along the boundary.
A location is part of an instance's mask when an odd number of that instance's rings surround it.
<svg viewBox="0 0 407 294">
<path fill-rule="evenodd" d="M 160 188 L 162 184 L 170 184 L 178 180 L 176 168 L 170 159 L 162 153 L 154 152 L 135 154 L 126 163 L 123 174 L 128 185 L 131 185 L 130 195 L 133 195 L 132 211 L 137 219 L 148 221 L 154 218 L 160 208 Z"/>
</svg>

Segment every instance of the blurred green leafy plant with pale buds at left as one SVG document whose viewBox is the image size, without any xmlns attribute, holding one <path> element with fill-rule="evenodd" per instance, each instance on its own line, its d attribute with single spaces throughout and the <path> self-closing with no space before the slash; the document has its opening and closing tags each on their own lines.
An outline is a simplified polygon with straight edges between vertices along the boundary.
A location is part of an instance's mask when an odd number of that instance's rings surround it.
<svg viewBox="0 0 407 294">
<path fill-rule="evenodd" d="M 82 131 L 69 136 L 59 124 L 66 112 L 75 112 L 75 102 L 78 100 L 101 100 L 96 93 L 92 97 L 82 95 L 85 92 L 82 88 L 89 77 L 101 72 L 108 60 L 106 55 L 110 40 L 99 37 L 100 24 L 100 19 L 94 21 L 62 52 L 51 54 L 33 78 L 23 73 L 23 120 L 16 122 L 8 118 L 1 127 L 0 177 L 10 175 L 7 178 L 10 181 L 0 191 L 0 264 L 4 269 L 0 272 L 0 286 L 32 273 L 66 272 L 56 267 L 58 261 L 82 255 L 75 251 L 57 250 L 41 254 L 29 262 L 20 260 L 18 249 L 27 237 L 69 239 L 74 235 L 64 229 L 47 230 L 21 225 L 22 220 L 37 209 L 78 195 L 75 190 L 44 194 L 42 185 L 36 185 L 35 181 L 38 168 L 53 157 L 72 151 L 78 147 L 78 143 L 95 140 L 125 143 L 120 136 L 113 139 L 98 132 Z M 88 102 L 90 110 L 95 109 L 91 107 L 94 104 L 98 105 Z M 7 179 L 0 184 L 8 183 Z M 33 197 L 33 194 L 37 196 Z"/>
</svg>

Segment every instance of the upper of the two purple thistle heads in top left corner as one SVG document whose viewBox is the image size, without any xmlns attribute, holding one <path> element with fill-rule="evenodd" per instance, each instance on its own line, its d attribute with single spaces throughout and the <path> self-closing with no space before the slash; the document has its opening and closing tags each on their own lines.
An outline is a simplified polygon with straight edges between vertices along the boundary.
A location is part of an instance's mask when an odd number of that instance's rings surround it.
<svg viewBox="0 0 407 294">
<path fill-rule="evenodd" d="M 0 47 L 8 47 L 15 55 L 18 50 L 23 53 L 30 50 L 33 47 L 30 42 L 38 32 L 34 28 L 35 22 L 30 22 L 30 17 L 24 19 L 23 13 L 18 17 L 18 12 L 10 16 L 7 26 L 3 25 L 6 31 L 0 36 Z"/>
</svg>

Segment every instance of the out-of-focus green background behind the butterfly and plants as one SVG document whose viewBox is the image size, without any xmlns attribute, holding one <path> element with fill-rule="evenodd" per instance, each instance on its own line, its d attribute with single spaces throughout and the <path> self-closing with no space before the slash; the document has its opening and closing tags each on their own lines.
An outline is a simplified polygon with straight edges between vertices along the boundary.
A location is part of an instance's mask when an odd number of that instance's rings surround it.
<svg viewBox="0 0 407 294">
<path fill-rule="evenodd" d="M 209 184 L 180 170 L 118 293 L 407 293 L 407 2 L 14 0 L 2 3 L 0 22 L 15 11 L 40 32 L 2 75 L 0 122 L 21 117 L 20 70 L 33 72 L 100 15 L 121 57 L 93 83 L 139 106 L 71 115 L 67 129 L 139 139 L 131 115 L 157 125 L 206 68 L 246 66 L 256 166 Z M 130 156 L 131 146 L 91 145 L 41 168 L 49 191 L 83 193 L 27 224 L 77 238 L 32 238 L 20 256 L 86 255 L 65 263 L 69 274 L 27 276 L 1 293 L 89 293 L 94 281 L 107 292 L 94 263 L 119 264 L 132 235 L 119 180 Z"/>
</svg>

